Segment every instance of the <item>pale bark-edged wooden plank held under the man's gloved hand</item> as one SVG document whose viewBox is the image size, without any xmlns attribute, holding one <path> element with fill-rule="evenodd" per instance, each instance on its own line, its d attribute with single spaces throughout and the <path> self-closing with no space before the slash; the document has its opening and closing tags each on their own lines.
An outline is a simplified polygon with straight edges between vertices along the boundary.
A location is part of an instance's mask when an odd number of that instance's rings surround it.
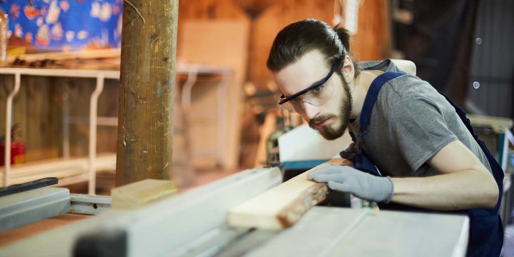
<svg viewBox="0 0 514 257">
<path fill-rule="evenodd" d="M 234 227 L 284 229 L 294 225 L 311 207 L 323 201 L 328 192 L 324 183 L 307 179 L 307 174 L 327 164 L 346 164 L 329 160 L 231 209 L 228 224 Z"/>
</svg>

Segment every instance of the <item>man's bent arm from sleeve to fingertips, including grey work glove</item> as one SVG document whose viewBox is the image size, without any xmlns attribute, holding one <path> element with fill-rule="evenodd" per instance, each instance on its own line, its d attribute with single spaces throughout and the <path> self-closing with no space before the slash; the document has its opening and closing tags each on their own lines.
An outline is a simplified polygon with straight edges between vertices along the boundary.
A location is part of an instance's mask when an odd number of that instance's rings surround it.
<svg viewBox="0 0 514 257">
<path fill-rule="evenodd" d="M 448 143 L 427 163 L 441 175 L 377 177 L 333 163 L 310 172 L 307 178 L 327 182 L 333 190 L 366 200 L 394 201 L 426 209 L 492 208 L 496 204 L 498 186 L 494 178 L 461 141 Z"/>
</svg>

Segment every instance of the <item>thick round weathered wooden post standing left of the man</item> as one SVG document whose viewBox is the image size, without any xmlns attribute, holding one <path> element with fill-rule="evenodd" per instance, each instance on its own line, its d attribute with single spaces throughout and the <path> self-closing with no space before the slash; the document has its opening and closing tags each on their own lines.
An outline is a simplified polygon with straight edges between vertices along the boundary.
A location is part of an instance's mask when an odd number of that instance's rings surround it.
<svg viewBox="0 0 514 257">
<path fill-rule="evenodd" d="M 124 0 L 116 185 L 170 179 L 178 0 Z"/>
</svg>

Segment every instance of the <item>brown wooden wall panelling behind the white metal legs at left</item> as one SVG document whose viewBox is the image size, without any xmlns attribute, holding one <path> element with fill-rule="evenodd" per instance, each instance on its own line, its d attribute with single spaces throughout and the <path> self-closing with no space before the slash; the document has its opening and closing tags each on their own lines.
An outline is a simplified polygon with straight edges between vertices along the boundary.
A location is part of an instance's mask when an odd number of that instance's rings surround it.
<svg viewBox="0 0 514 257">
<path fill-rule="evenodd" d="M 5 135 L 5 103 L 12 90 L 12 76 L 0 76 L 0 137 Z M 116 117 L 117 80 L 106 80 L 99 98 L 98 115 Z M 13 124 L 19 123 L 25 142 L 26 161 L 62 156 L 63 123 L 62 93 L 69 93 L 69 114 L 89 117 L 89 96 L 95 87 L 94 79 L 66 79 L 22 76 L 19 93 L 13 101 Z M 116 152 L 116 127 L 98 126 L 97 152 Z M 89 126 L 70 124 L 70 156 L 88 154 Z"/>
</svg>

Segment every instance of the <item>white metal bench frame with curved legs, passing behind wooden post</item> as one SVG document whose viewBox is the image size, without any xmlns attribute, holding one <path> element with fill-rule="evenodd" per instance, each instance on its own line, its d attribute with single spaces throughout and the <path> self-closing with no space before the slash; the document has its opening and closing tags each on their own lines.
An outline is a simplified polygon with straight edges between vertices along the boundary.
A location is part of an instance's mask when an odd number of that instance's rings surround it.
<svg viewBox="0 0 514 257">
<path fill-rule="evenodd" d="M 90 96 L 89 104 L 89 153 L 88 153 L 88 194 L 95 194 L 96 186 L 96 145 L 97 145 L 97 125 L 100 120 L 102 124 L 108 123 L 108 125 L 114 125 L 113 118 L 105 118 L 97 116 L 98 97 L 102 93 L 104 80 L 105 79 L 119 79 L 119 70 L 86 70 L 86 69 L 51 69 L 51 68 L 0 68 L 0 74 L 3 75 L 14 75 L 14 89 L 10 92 L 6 101 L 6 143 L 5 143 L 5 168 L 4 168 L 4 179 L 3 186 L 9 185 L 9 173 L 11 172 L 11 126 L 12 126 L 12 100 L 20 90 L 21 76 L 48 76 L 48 77 L 68 77 L 68 78 L 96 78 L 96 87 L 93 94 Z M 228 85 L 232 75 L 232 69 L 226 67 L 216 67 L 207 65 L 197 64 L 177 64 L 176 66 L 177 75 L 187 75 L 185 86 L 182 89 L 181 104 L 189 106 L 191 103 L 191 90 L 193 85 L 196 83 L 197 75 L 222 75 L 222 80 L 218 84 L 217 93 L 217 118 L 218 118 L 218 151 L 217 160 L 219 164 L 224 165 L 225 163 L 225 151 L 220 149 L 225 142 L 225 133 L 227 126 L 227 95 Z M 67 96 L 63 96 L 66 98 Z M 66 106 L 67 108 L 67 106 Z M 63 110 L 66 112 L 67 109 Z M 69 122 L 68 117 L 64 117 L 64 123 Z M 64 125 L 64 140 L 63 140 L 63 155 L 64 158 L 69 158 L 69 137 L 67 136 L 67 124 Z M 84 179 L 84 174 L 78 175 L 77 177 Z"/>
</svg>

